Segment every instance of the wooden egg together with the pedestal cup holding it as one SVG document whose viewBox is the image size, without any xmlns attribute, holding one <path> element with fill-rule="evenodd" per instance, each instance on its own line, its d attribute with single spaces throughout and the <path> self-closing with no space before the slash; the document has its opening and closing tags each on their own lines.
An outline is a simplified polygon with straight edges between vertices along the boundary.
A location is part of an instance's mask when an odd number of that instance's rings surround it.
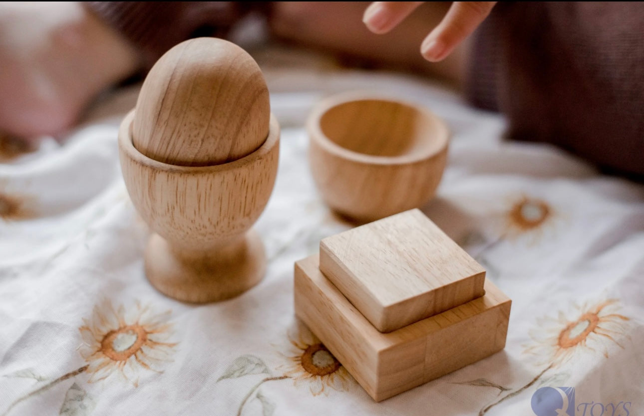
<svg viewBox="0 0 644 416">
<path fill-rule="evenodd" d="M 277 174 L 279 124 L 251 61 L 220 39 L 175 46 L 120 127 L 124 181 L 153 231 L 147 279 L 178 300 L 231 298 L 265 273 L 251 227 Z"/>
</svg>

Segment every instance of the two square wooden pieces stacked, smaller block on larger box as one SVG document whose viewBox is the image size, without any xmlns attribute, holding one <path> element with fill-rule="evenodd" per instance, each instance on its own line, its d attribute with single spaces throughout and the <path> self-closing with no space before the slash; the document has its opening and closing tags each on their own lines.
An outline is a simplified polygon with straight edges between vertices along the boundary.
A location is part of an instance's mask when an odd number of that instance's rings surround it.
<svg viewBox="0 0 644 416">
<path fill-rule="evenodd" d="M 419 210 L 320 242 L 297 316 L 375 401 L 502 350 L 511 300 Z"/>
</svg>

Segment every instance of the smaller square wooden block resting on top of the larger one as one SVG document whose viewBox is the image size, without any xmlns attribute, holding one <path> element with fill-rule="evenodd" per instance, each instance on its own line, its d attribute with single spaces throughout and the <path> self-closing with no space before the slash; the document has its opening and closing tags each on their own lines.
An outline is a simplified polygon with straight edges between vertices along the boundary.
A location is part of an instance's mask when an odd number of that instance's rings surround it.
<svg viewBox="0 0 644 416">
<path fill-rule="evenodd" d="M 320 269 L 381 332 L 484 294 L 485 269 L 420 210 L 321 240 Z"/>
</svg>

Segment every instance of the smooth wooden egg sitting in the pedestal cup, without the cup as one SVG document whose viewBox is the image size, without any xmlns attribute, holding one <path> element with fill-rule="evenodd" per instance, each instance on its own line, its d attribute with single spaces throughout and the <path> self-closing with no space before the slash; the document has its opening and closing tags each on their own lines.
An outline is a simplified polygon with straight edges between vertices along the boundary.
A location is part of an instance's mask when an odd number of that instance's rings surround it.
<svg viewBox="0 0 644 416">
<path fill-rule="evenodd" d="M 147 75 L 132 138 L 139 152 L 163 163 L 216 165 L 258 149 L 269 114 L 269 91 L 251 55 L 222 39 L 191 39 Z"/>
</svg>

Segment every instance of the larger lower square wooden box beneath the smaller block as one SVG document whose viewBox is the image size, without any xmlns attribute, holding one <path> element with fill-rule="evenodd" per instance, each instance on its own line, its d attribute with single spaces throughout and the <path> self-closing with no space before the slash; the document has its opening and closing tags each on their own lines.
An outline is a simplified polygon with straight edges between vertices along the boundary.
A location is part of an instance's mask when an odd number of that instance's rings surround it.
<svg viewBox="0 0 644 416">
<path fill-rule="evenodd" d="M 383 334 L 319 270 L 295 264 L 296 315 L 375 401 L 388 399 L 502 350 L 511 301 L 491 282 L 486 294 Z"/>
</svg>

